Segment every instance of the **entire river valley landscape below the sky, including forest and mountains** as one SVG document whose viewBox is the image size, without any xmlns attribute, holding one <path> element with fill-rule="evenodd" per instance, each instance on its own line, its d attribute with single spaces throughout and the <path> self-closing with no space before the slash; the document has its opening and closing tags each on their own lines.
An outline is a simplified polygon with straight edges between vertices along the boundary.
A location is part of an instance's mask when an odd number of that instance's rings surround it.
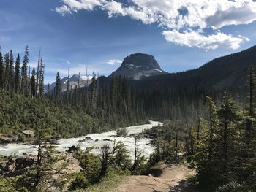
<svg viewBox="0 0 256 192">
<path fill-rule="evenodd" d="M 108 77 L 57 72 L 48 91 L 40 55 L 38 72 L 20 76 L 7 53 L 0 191 L 252 191 L 255 53 L 174 74 L 135 53 Z M 22 74 L 28 58 L 27 46 Z"/>
</svg>

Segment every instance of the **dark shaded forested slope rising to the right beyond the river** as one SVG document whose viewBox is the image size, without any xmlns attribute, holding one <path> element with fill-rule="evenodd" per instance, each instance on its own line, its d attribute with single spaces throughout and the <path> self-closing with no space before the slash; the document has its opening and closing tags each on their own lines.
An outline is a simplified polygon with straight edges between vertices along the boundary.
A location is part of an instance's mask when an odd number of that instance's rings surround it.
<svg viewBox="0 0 256 192">
<path fill-rule="evenodd" d="M 256 46 L 214 59 L 198 69 L 130 81 L 139 91 L 146 115 L 151 118 L 195 122 L 205 116 L 206 95 L 217 105 L 227 91 L 238 103 L 246 97 L 246 74 L 256 63 Z"/>
</svg>

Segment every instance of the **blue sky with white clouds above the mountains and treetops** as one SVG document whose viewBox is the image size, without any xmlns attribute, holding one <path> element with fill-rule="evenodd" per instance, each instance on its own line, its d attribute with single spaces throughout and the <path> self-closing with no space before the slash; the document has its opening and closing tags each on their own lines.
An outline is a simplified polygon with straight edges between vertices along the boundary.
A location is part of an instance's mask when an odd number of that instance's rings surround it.
<svg viewBox="0 0 256 192">
<path fill-rule="evenodd" d="M 37 66 L 45 83 L 71 74 L 109 75 L 132 53 L 154 55 L 166 72 L 195 69 L 256 44 L 252 0 L 1 0 L 1 52 Z"/>
</svg>

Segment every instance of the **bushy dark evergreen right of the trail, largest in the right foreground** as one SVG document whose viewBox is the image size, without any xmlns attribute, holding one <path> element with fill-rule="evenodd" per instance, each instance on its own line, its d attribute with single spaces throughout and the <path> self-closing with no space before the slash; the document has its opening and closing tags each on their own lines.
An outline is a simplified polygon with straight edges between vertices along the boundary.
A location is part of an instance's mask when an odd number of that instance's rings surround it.
<svg viewBox="0 0 256 192">
<path fill-rule="evenodd" d="M 221 169 L 223 172 L 222 180 L 230 179 L 233 169 L 236 167 L 236 158 L 241 146 L 239 129 L 241 127 L 241 113 L 233 99 L 225 93 L 222 105 L 217 112 L 219 116 L 219 131 L 217 133 L 218 155 Z"/>
</svg>

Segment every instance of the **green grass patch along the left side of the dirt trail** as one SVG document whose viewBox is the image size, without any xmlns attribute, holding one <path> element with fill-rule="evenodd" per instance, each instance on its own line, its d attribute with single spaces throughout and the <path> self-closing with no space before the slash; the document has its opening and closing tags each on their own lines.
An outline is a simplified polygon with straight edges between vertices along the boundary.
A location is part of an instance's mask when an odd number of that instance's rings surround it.
<svg viewBox="0 0 256 192">
<path fill-rule="evenodd" d="M 116 172 L 108 172 L 107 176 L 102 178 L 102 180 L 94 185 L 89 185 L 86 189 L 79 189 L 73 192 L 105 192 L 110 191 L 118 187 L 118 185 L 124 179 L 124 175 L 120 175 Z"/>
</svg>

